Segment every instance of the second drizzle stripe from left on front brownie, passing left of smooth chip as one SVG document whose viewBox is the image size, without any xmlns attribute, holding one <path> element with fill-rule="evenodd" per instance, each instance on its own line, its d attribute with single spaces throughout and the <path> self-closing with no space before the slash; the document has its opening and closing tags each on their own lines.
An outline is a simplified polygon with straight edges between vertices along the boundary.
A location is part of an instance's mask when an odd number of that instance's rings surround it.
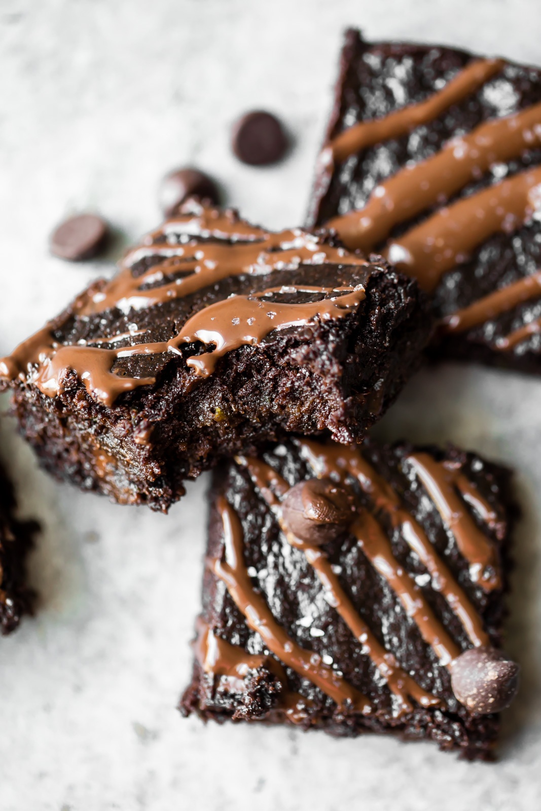
<svg viewBox="0 0 541 811">
<path fill-rule="evenodd" d="M 423 690 L 423 688 L 400 667 L 393 654 L 385 650 L 384 646 L 380 644 L 377 637 L 371 632 L 369 626 L 355 610 L 354 604 L 351 602 L 346 592 L 342 589 L 340 581 L 333 572 L 332 566 L 328 562 L 328 558 L 324 555 L 324 552 L 316 546 L 299 541 L 287 530 L 287 527 L 284 526 L 281 521 L 280 501 L 277 500 L 271 487 L 283 497 L 289 490 L 286 480 L 281 478 L 280 474 L 277 474 L 270 465 L 266 465 L 259 459 L 237 457 L 237 461 L 239 464 L 247 467 L 255 487 L 260 491 L 261 496 L 264 497 L 267 504 L 274 509 L 277 520 L 289 543 L 304 552 L 308 563 L 315 570 L 321 585 L 324 587 L 329 605 L 331 605 L 341 616 L 342 620 L 344 620 L 355 639 L 363 646 L 362 653 L 370 657 L 372 663 L 374 663 L 381 676 L 383 676 L 384 680 L 389 685 L 391 692 L 398 698 L 398 713 L 408 713 L 413 710 L 413 707 L 408 701 L 408 696 L 414 698 L 421 706 L 436 706 L 440 704 L 440 700 L 432 696 L 431 693 L 427 693 L 426 690 Z"/>
</svg>

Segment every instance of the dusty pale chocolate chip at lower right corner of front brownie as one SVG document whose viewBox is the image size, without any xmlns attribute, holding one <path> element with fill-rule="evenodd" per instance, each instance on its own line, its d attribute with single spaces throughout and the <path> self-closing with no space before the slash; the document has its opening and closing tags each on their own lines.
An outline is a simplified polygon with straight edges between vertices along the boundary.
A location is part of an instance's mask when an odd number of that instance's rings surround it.
<svg viewBox="0 0 541 811">
<path fill-rule="evenodd" d="M 471 712 L 500 712 L 517 693 L 519 669 L 517 663 L 507 659 L 500 650 L 470 648 L 453 662 L 453 693 Z"/>
</svg>

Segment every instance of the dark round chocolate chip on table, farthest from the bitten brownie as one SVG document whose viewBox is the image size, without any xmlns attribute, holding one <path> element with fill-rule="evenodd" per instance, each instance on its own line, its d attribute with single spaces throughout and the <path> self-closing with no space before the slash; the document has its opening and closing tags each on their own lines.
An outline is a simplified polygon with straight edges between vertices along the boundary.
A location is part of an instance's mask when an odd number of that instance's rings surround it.
<svg viewBox="0 0 541 811">
<path fill-rule="evenodd" d="M 287 145 L 281 123 L 262 110 L 243 115 L 233 127 L 233 151 L 243 163 L 254 166 L 276 163 L 286 154 Z"/>
</svg>

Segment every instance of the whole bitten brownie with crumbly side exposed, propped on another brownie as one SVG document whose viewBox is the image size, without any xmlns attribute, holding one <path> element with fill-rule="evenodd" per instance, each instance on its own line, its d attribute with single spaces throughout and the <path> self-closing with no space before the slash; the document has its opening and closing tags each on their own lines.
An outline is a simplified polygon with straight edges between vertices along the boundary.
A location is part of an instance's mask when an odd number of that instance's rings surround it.
<svg viewBox="0 0 541 811">
<path fill-rule="evenodd" d="M 165 511 L 184 479 L 288 431 L 362 439 L 431 328 L 418 285 L 380 257 L 190 201 L 0 381 L 49 472 Z"/>
</svg>

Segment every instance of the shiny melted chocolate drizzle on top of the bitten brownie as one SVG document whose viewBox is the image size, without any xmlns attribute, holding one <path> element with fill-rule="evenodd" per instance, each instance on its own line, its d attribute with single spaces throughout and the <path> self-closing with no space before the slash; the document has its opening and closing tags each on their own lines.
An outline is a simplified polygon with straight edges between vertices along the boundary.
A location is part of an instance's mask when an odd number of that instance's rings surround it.
<svg viewBox="0 0 541 811">
<path fill-rule="evenodd" d="M 186 240 L 177 244 L 182 235 Z M 163 244 L 163 239 L 172 242 Z M 213 241 L 198 242 L 198 239 Z M 152 266 L 135 276 L 133 266 L 145 257 L 151 258 Z M 100 290 L 94 288 L 79 298 L 71 314 L 85 317 L 117 308 L 127 315 L 134 309 L 194 294 L 227 277 L 268 275 L 298 268 L 300 264 L 324 263 L 367 264 L 366 260 L 322 243 L 302 230 L 270 234 L 238 221 L 230 212 L 192 202 L 184 216 L 166 221 L 160 230 L 150 234 L 143 247 L 130 251 L 117 277 Z M 167 281 L 179 272 L 184 275 Z M 311 300 L 277 300 L 303 294 L 308 294 Z M 122 358 L 139 354 L 179 355 L 182 345 L 200 342 L 211 349 L 191 355 L 186 363 L 195 376 L 204 377 L 212 374 L 224 354 L 239 346 L 256 345 L 277 329 L 311 324 L 315 319 L 340 319 L 363 298 L 362 285 L 336 289 L 317 285 L 269 287 L 254 294 L 224 298 L 196 311 L 169 341 L 120 347 L 110 346 L 120 341 L 120 336 L 98 338 L 83 345 L 80 341 L 78 345 L 58 344 L 53 335 L 58 325 L 48 324 L 20 344 L 11 356 L 2 359 L 0 377 L 14 380 L 19 376 L 26 380 L 29 375 L 28 380 L 42 393 L 54 397 L 62 393 L 63 381 L 72 370 L 91 397 L 110 406 L 119 394 L 155 382 L 154 377 L 131 377 L 115 367 Z M 131 339 L 141 332 L 134 330 L 122 338 Z"/>
</svg>

